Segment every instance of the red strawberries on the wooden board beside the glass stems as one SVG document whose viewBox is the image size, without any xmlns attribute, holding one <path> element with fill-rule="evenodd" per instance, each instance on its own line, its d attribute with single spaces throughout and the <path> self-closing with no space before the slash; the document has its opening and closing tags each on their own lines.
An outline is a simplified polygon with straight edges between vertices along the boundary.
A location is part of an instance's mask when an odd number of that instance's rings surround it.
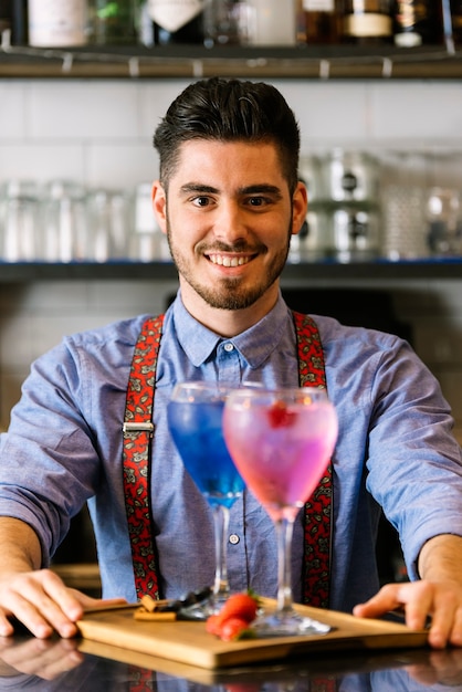
<svg viewBox="0 0 462 692">
<path fill-rule="evenodd" d="M 258 609 L 259 600 L 252 591 L 233 594 L 220 612 L 208 618 L 206 629 L 223 641 L 253 637 L 251 623 L 256 618 Z"/>
</svg>

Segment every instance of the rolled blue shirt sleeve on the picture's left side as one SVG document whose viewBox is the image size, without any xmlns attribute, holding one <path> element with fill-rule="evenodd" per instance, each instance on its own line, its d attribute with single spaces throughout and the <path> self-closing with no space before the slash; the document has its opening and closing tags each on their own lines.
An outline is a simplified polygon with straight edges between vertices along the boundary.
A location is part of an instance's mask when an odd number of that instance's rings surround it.
<svg viewBox="0 0 462 692">
<path fill-rule="evenodd" d="M 44 565 L 98 480 L 95 437 L 81 408 L 92 397 L 80 370 L 64 343 L 39 358 L 0 441 L 0 514 L 34 528 Z"/>
</svg>

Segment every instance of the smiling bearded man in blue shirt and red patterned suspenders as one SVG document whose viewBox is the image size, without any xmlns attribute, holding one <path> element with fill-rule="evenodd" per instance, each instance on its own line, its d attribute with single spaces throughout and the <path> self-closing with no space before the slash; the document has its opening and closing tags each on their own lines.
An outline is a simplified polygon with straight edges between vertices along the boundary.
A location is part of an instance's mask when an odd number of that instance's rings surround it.
<svg viewBox="0 0 462 692">
<path fill-rule="evenodd" d="M 48 569 L 85 502 L 104 598 L 213 583 L 211 513 L 166 417 L 174 386 L 203 379 L 326 386 L 336 407 L 332 479 L 294 526 L 295 599 L 365 617 L 403 608 L 413 628 L 430 615 L 433 647 L 462 646 L 462 463 L 438 381 L 398 337 L 294 315 L 280 292 L 307 208 L 293 112 L 269 84 L 199 81 L 154 144 L 178 295 L 161 318 L 74 334 L 32 365 L 0 448 L 0 635 L 15 616 L 38 637 L 70 637 L 94 605 Z M 145 438 L 129 432 L 140 410 Z M 380 507 L 410 576 L 381 590 Z M 272 522 L 244 492 L 231 507 L 231 588 L 274 597 L 276 563 Z"/>
</svg>

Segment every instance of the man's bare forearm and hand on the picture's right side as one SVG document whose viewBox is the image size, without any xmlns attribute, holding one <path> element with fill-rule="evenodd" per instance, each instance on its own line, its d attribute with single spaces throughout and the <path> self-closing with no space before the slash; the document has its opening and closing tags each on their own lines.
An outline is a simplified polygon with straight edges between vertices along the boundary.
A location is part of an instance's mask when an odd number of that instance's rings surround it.
<svg viewBox="0 0 462 692">
<path fill-rule="evenodd" d="M 462 537 L 444 534 L 428 541 L 420 552 L 419 574 L 418 581 L 386 585 L 356 606 L 354 615 L 374 618 L 401 608 L 412 629 L 423 629 L 430 616 L 432 647 L 462 647 Z"/>
</svg>

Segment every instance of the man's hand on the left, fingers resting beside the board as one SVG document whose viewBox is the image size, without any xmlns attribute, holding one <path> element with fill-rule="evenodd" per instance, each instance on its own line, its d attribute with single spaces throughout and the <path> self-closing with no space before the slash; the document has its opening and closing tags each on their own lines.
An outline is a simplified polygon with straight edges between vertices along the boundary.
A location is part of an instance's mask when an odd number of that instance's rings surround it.
<svg viewBox="0 0 462 692">
<path fill-rule="evenodd" d="M 102 600 L 67 588 L 50 569 L 24 572 L 2 576 L 0 580 L 0 636 L 14 631 L 11 618 L 17 618 L 27 629 L 45 639 L 56 631 L 61 637 L 75 637 L 75 622 L 86 608 L 102 604 L 125 602 L 124 599 Z"/>
</svg>

